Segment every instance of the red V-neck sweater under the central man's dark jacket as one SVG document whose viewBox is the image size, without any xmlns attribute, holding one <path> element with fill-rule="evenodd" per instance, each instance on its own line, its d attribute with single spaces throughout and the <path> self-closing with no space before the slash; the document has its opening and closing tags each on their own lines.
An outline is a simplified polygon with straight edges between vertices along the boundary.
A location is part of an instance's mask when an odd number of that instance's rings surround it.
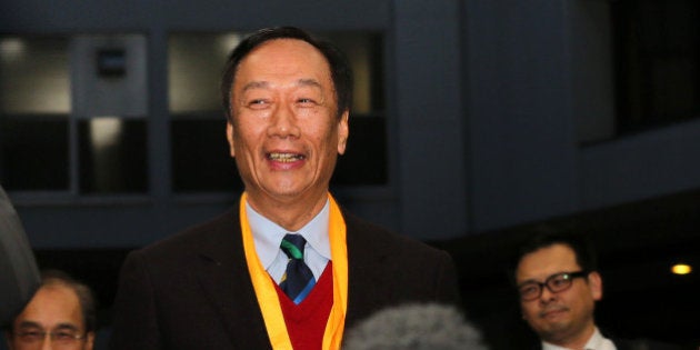
<svg viewBox="0 0 700 350">
<path fill-rule="evenodd" d="M 287 294 L 276 286 L 280 299 L 287 332 L 294 349 L 321 349 L 326 323 L 333 307 L 333 269 L 329 261 L 323 273 L 307 298 L 294 304 Z"/>
</svg>

